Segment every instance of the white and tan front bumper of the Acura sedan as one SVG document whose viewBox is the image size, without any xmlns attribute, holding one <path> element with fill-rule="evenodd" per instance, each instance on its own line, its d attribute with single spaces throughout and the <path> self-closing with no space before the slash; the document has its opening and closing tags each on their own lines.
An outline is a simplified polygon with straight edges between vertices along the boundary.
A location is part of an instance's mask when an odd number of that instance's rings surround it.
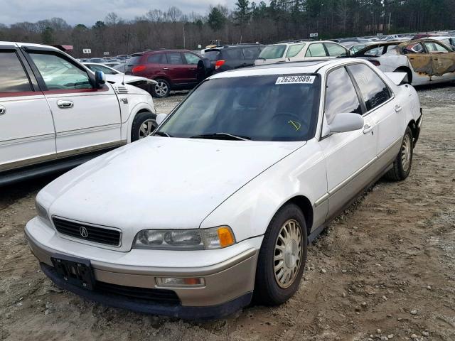
<svg viewBox="0 0 455 341">
<path fill-rule="evenodd" d="M 62 239 L 62 243 L 66 243 L 66 249 L 65 244 L 62 244 L 61 248 L 56 247 L 55 239 L 61 238 L 53 231 L 46 231 L 48 235 L 54 235 L 48 239 L 48 243 L 43 242 L 41 239 L 43 239 L 44 233 L 39 232 L 43 232 L 43 228 L 50 228 L 42 227 L 40 222 L 41 220 L 37 218 L 28 222 L 25 234 L 31 251 L 41 264 L 41 269 L 43 269 L 43 272 L 57 286 L 91 301 L 141 313 L 168 315 L 185 319 L 221 318 L 234 313 L 239 308 L 242 308 L 242 306 L 248 305 L 251 301 L 252 291 L 255 286 L 255 270 L 259 251 L 259 248 L 250 247 L 251 244 L 248 247 L 243 247 L 243 251 L 235 256 L 210 266 L 191 266 L 186 268 L 175 266 L 175 264 L 166 268 L 162 266 L 132 266 L 99 261 L 93 259 L 90 253 L 84 250 L 90 249 L 90 251 L 93 251 L 93 249 L 97 249 L 97 252 L 108 254 L 119 251 L 98 249 L 97 247 L 76 242 L 68 242 L 65 239 Z M 259 239 L 257 245 L 260 245 L 260 242 L 262 242 L 262 238 Z M 74 249 L 68 249 L 68 243 Z M 77 252 L 75 252 L 76 250 Z M 141 255 L 144 255 L 143 251 L 149 251 L 150 257 L 153 258 L 154 250 L 141 251 Z M 215 256 L 217 251 L 219 250 L 205 251 L 205 261 L 207 261 L 207 258 L 212 258 L 211 255 Z M 186 251 L 177 252 L 180 252 L 184 256 L 184 252 Z M 171 290 L 176 293 L 179 302 L 169 304 L 168 302 L 162 301 L 138 300 L 128 296 L 112 295 L 112 293 L 97 291 L 96 286 L 94 291 L 74 286 L 64 281 L 53 268 L 50 258 L 55 254 L 90 259 L 95 281 L 101 284 L 109 283 L 114 286 L 122 286 L 125 289 L 139 289 L 139 291 L 141 288 L 144 288 L 144 291 L 149 289 Z M 120 254 L 128 253 L 120 252 Z M 139 264 L 142 264 L 142 262 L 139 262 Z M 193 288 L 160 287 L 156 283 L 156 276 L 203 277 L 205 286 Z"/>
</svg>

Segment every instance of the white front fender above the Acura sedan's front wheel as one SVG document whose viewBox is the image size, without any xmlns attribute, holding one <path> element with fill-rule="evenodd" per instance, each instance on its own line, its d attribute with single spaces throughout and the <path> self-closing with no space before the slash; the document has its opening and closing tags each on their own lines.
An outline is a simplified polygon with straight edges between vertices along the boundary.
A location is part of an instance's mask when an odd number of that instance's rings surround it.
<svg viewBox="0 0 455 341">
<path fill-rule="evenodd" d="M 326 193 L 326 161 L 319 141 L 313 139 L 228 197 L 200 228 L 227 224 L 240 242 L 264 234 L 275 213 L 293 197 L 304 196 L 314 207 Z M 314 207 L 314 226 L 322 224 L 326 215 L 326 202 Z"/>
</svg>

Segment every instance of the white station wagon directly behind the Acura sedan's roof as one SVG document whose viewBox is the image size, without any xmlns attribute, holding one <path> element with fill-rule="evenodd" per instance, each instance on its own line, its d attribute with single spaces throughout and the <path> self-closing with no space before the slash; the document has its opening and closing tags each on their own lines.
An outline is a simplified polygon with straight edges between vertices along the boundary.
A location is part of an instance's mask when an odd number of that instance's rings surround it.
<svg viewBox="0 0 455 341">
<path fill-rule="evenodd" d="M 259 57 L 255 60 L 255 65 L 332 59 L 348 55 L 349 50 L 347 48 L 333 41 L 301 40 L 267 45 L 259 53 Z"/>
</svg>

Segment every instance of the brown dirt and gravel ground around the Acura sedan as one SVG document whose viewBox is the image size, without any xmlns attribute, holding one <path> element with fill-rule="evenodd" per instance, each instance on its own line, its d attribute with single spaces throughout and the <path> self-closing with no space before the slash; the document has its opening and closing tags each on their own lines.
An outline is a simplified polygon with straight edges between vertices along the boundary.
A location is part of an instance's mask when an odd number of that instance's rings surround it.
<svg viewBox="0 0 455 341">
<path fill-rule="evenodd" d="M 141 315 L 60 291 L 23 237 L 36 193 L 55 176 L 0 188 L 0 340 L 455 340 L 455 85 L 419 96 L 410 177 L 381 180 L 331 223 L 288 303 L 223 320 Z"/>
</svg>

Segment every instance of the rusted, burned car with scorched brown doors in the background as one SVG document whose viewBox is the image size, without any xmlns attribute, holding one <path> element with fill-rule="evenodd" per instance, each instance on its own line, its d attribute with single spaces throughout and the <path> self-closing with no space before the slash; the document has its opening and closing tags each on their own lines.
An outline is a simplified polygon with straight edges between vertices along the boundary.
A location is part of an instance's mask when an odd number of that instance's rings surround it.
<svg viewBox="0 0 455 341">
<path fill-rule="evenodd" d="M 382 72 L 406 72 L 405 81 L 412 85 L 455 80 L 455 50 L 434 39 L 374 43 L 354 57 L 369 60 Z"/>
</svg>

